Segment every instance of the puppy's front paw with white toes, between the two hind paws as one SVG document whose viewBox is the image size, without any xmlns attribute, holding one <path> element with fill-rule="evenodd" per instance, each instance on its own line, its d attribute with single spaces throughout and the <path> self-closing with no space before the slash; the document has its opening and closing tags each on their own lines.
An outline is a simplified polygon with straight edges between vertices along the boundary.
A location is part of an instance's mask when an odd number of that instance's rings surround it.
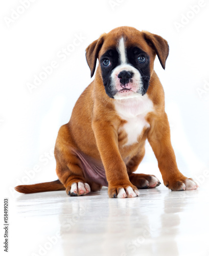
<svg viewBox="0 0 209 256">
<path fill-rule="evenodd" d="M 137 187 L 133 185 L 108 186 L 108 195 L 110 198 L 137 197 L 140 195 Z"/>
</svg>

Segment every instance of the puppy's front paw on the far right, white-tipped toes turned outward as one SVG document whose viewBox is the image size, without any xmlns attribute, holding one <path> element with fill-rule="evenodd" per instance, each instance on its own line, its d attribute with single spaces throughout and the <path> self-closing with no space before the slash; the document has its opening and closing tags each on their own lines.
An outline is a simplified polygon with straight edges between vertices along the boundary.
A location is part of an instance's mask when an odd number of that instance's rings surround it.
<svg viewBox="0 0 209 256">
<path fill-rule="evenodd" d="M 172 191 L 193 190 L 198 188 L 198 184 L 193 179 L 185 178 L 186 177 L 168 181 L 165 185 Z"/>
</svg>

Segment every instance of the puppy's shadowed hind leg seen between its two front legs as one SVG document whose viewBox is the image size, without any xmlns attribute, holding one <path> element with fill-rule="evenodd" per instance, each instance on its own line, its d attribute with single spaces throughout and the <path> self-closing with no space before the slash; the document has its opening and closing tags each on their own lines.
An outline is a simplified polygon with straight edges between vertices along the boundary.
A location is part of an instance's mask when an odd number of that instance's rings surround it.
<svg viewBox="0 0 209 256">
<path fill-rule="evenodd" d="M 143 147 L 140 153 L 130 159 L 130 161 L 126 164 L 127 172 L 129 175 L 130 182 L 136 186 L 137 188 L 154 188 L 159 186 L 161 183 L 154 175 L 147 174 L 134 174 L 135 170 L 137 170 L 138 165 L 141 163 L 143 157 L 145 155 L 145 148 Z"/>
</svg>

